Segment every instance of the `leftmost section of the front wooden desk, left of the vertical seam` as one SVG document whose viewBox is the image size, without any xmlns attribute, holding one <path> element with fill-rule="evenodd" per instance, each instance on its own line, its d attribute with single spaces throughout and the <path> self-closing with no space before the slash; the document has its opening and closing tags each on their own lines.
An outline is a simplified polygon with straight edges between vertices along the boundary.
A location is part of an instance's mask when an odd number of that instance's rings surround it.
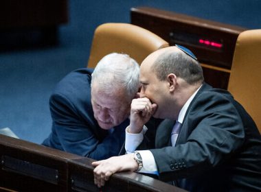
<svg viewBox="0 0 261 192">
<path fill-rule="evenodd" d="M 0 158 L 0 187 L 68 191 L 67 161 L 81 157 L 0 134 Z"/>
</svg>

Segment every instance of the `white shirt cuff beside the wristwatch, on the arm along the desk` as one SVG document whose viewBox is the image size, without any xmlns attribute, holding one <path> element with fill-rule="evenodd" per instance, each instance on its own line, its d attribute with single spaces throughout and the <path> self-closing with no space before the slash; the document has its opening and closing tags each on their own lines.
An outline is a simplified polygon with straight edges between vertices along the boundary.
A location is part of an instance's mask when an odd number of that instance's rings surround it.
<svg viewBox="0 0 261 192">
<path fill-rule="evenodd" d="M 150 152 L 150 150 L 141 150 L 137 152 L 139 152 L 142 159 L 142 168 L 138 172 L 159 175 L 155 158 L 152 152 Z"/>
</svg>

